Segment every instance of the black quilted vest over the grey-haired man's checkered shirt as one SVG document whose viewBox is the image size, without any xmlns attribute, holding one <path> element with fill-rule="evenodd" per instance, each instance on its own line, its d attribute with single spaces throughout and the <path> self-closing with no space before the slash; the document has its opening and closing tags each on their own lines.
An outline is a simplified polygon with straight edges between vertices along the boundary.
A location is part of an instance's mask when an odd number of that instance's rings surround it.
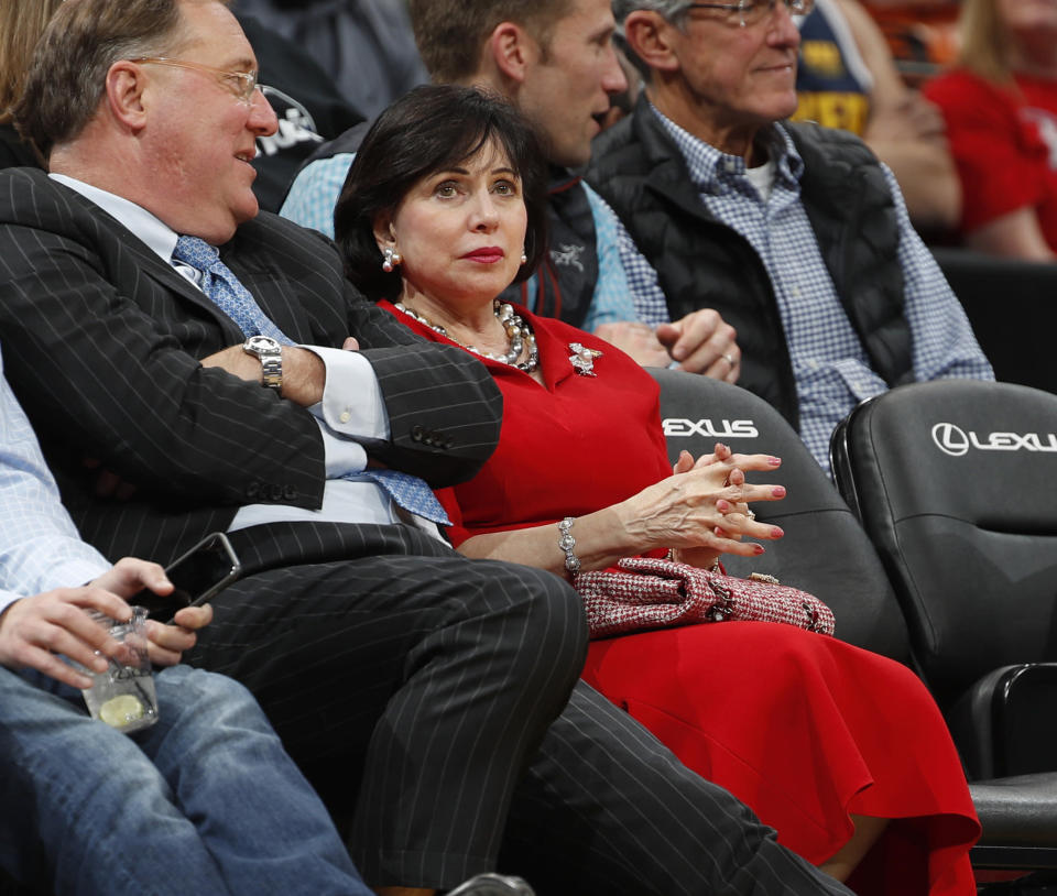
<svg viewBox="0 0 1057 896">
<path fill-rule="evenodd" d="M 881 166 L 842 131 L 787 127 L 805 163 L 802 200 L 844 312 L 874 371 L 890 386 L 912 382 L 898 226 Z M 633 116 L 598 138 L 587 178 L 656 269 L 672 318 L 716 308 L 738 331 L 738 384 L 798 428 L 785 330 L 763 262 L 701 204 L 683 156 L 644 98 Z"/>
</svg>

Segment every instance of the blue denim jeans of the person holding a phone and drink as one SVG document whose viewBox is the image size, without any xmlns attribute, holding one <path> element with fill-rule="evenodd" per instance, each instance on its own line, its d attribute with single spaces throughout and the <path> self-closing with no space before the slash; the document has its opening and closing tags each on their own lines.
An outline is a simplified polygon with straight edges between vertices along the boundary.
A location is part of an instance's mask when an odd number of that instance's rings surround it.
<svg viewBox="0 0 1057 896">
<path fill-rule="evenodd" d="M 249 691 L 155 678 L 160 720 L 130 736 L 0 667 L 0 866 L 77 896 L 370 896 Z"/>
</svg>

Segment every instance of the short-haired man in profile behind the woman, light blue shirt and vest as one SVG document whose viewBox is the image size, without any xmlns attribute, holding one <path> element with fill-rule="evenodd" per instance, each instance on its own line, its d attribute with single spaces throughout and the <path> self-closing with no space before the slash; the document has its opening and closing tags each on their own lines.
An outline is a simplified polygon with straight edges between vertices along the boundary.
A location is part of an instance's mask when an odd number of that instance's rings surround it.
<svg viewBox="0 0 1057 896">
<path fill-rule="evenodd" d="M 549 144 L 551 251 L 508 298 L 619 345 L 644 364 L 682 367 L 734 382 L 734 331 L 710 309 L 656 332 L 635 318 L 617 245 L 617 220 L 574 173 L 628 87 L 613 52 L 609 0 L 411 0 L 415 40 L 437 83 L 478 86 L 511 100 Z M 334 236 L 334 207 L 366 128 L 320 146 L 282 214 Z M 687 347 L 694 347 L 694 351 Z"/>
</svg>

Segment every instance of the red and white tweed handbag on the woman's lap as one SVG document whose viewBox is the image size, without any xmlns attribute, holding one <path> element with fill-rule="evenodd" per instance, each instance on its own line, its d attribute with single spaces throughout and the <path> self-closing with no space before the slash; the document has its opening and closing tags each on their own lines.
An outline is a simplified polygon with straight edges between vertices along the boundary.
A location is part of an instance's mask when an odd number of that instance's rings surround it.
<svg viewBox="0 0 1057 896">
<path fill-rule="evenodd" d="M 675 560 L 629 557 L 617 569 L 580 572 L 591 637 L 701 622 L 782 622 L 831 635 L 833 613 L 814 594 L 771 577 L 741 579 Z"/>
</svg>

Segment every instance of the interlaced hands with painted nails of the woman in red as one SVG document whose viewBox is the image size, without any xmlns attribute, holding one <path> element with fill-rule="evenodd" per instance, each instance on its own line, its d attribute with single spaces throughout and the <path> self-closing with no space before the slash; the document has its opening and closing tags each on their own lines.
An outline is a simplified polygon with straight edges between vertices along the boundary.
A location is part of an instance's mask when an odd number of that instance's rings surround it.
<svg viewBox="0 0 1057 896">
<path fill-rule="evenodd" d="M 613 510 L 638 551 L 672 547 L 687 562 L 710 566 L 720 554 L 755 556 L 764 548 L 743 544 L 742 537 L 775 539 L 780 527 L 755 522 L 753 501 L 778 501 L 782 485 L 752 485 L 745 471 L 774 470 L 781 465 L 770 455 L 734 455 L 717 445 L 712 455 L 697 461 L 684 452 L 673 476 L 644 489 Z"/>
</svg>

